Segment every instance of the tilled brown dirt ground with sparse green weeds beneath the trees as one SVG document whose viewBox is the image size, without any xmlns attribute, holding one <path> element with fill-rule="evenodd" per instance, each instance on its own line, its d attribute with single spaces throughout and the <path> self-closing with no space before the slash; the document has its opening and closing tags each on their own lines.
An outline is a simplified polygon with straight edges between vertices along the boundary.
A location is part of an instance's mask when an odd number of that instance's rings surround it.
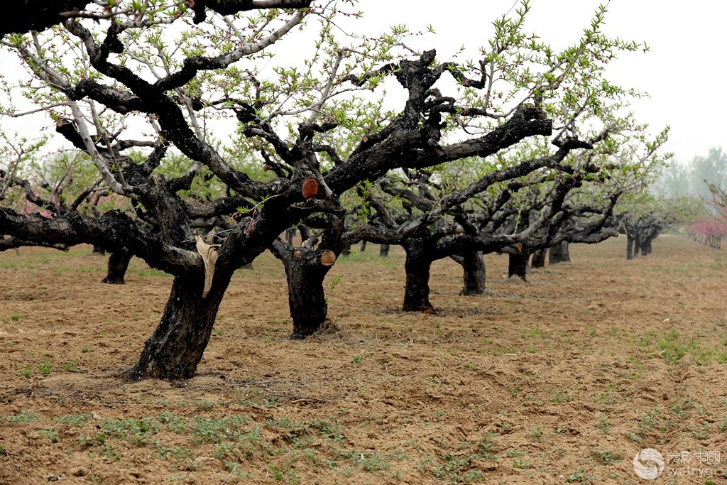
<svg viewBox="0 0 727 485">
<path fill-rule="evenodd" d="M 0 483 L 726 483 L 727 256 L 662 236 L 626 261 L 625 243 L 526 283 L 488 255 L 481 297 L 436 262 L 428 315 L 400 311 L 403 252 L 369 246 L 331 270 L 334 325 L 302 342 L 264 254 L 187 382 L 117 377 L 169 276 L 133 260 L 100 284 L 87 246 L 1 253 Z"/>
</svg>

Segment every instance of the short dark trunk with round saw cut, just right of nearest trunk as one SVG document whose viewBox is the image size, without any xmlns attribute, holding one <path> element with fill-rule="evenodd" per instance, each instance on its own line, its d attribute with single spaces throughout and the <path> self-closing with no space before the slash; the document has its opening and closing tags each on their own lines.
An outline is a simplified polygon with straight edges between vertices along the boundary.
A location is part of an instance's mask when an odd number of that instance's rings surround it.
<svg viewBox="0 0 727 485">
<path fill-rule="evenodd" d="M 288 305 L 293 320 L 290 337 L 309 337 L 326 323 L 328 303 L 323 283 L 336 261 L 336 254 L 326 249 L 312 249 L 305 243 L 292 248 L 279 239 L 271 249 L 285 266 Z"/>
</svg>

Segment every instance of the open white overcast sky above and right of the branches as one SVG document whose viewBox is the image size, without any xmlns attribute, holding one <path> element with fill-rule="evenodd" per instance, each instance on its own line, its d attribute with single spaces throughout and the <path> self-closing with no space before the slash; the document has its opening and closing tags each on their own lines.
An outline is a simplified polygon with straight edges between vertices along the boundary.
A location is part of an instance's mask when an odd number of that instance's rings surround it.
<svg viewBox="0 0 727 485">
<path fill-rule="evenodd" d="M 566 47 L 590 24 L 596 0 L 531 0 L 526 30 L 553 47 Z M 422 48 L 436 47 L 438 57 L 459 46 L 477 49 L 491 34 L 491 21 L 514 0 L 361 0 L 361 31 L 375 33 L 387 25 L 406 23 L 412 31 L 431 24 Z M 519 2 L 518 2 L 519 5 Z M 635 102 L 638 119 L 657 132 L 671 126 L 667 151 L 680 161 L 727 148 L 727 1 L 611 0 L 606 12 L 608 36 L 645 41 L 649 52 L 625 54 L 609 69 L 619 84 L 648 92 Z M 369 28 L 366 27 L 366 30 Z M 473 52 L 472 57 L 476 55 Z"/>
</svg>

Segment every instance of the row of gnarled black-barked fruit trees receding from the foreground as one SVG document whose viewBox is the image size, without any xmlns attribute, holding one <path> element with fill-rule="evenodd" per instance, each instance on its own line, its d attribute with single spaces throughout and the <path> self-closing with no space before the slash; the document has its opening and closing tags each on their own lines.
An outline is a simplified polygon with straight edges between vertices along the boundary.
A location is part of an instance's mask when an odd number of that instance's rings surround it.
<svg viewBox="0 0 727 485">
<path fill-rule="evenodd" d="M 50 20 L 5 27 L 24 75 L 0 105 L 43 111 L 73 148 L 43 160 L 42 140 L 4 138 L 0 234 L 174 276 L 132 379 L 191 377 L 230 278 L 266 249 L 294 337 L 324 324 L 324 277 L 358 241 L 402 246 L 403 310 L 428 311 L 433 261 L 462 264 L 463 292 L 480 292 L 487 252 L 524 277 L 531 254 L 616 235 L 668 156 L 667 130 L 650 135 L 627 110 L 638 93 L 605 75 L 645 50 L 601 31 L 605 8 L 555 50 L 523 1 L 478 59 L 445 62 L 402 26 L 346 34 L 353 1 L 49 3 Z M 298 225 L 316 236 L 278 237 Z"/>
</svg>

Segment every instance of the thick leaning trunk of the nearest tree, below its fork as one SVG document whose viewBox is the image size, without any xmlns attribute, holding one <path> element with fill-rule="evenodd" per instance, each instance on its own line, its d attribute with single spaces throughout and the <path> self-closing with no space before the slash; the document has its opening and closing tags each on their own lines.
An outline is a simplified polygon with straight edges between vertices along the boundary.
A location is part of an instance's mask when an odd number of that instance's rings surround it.
<svg viewBox="0 0 727 485">
<path fill-rule="evenodd" d="M 161 321 L 126 377 L 180 380 L 194 376 L 212 334 L 222 296 L 230 284 L 231 274 L 218 273 L 204 298 L 204 274 L 174 277 Z"/>
</svg>

